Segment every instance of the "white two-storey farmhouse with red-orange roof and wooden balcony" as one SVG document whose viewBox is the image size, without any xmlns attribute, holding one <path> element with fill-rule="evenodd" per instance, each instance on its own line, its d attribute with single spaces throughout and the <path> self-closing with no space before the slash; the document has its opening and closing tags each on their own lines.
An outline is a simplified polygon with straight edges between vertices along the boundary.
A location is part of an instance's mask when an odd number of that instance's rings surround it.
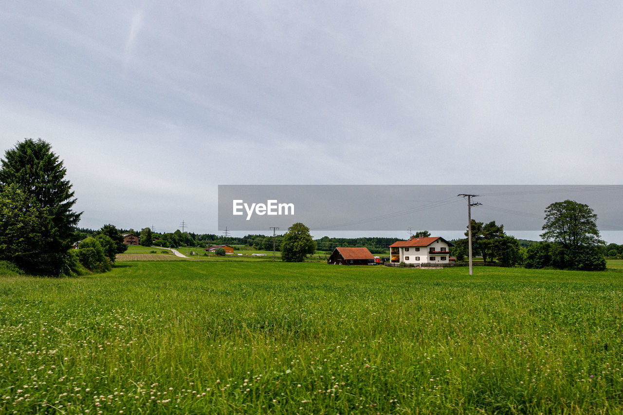
<svg viewBox="0 0 623 415">
<path fill-rule="evenodd" d="M 389 246 L 392 263 L 405 264 L 447 264 L 450 259 L 450 247 L 454 246 L 439 236 L 416 238 L 409 241 L 397 241 Z"/>
</svg>

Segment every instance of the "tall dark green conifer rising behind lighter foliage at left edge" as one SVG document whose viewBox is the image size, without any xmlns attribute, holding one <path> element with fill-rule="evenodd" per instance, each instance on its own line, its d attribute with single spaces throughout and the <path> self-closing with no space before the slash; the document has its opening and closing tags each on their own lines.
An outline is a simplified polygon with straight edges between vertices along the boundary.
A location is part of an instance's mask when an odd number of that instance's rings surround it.
<svg viewBox="0 0 623 415">
<path fill-rule="evenodd" d="M 52 146 L 41 139 L 27 138 L 17 143 L 1 160 L 0 187 L 16 185 L 31 197 L 31 203 L 15 208 L 34 207 L 39 217 L 40 232 L 32 235 L 37 255 L 22 264 L 32 274 L 57 276 L 69 271 L 67 250 L 74 242 L 74 228 L 82 212 L 72 210 L 76 199 L 72 185 L 65 179 L 66 173 Z"/>
</svg>

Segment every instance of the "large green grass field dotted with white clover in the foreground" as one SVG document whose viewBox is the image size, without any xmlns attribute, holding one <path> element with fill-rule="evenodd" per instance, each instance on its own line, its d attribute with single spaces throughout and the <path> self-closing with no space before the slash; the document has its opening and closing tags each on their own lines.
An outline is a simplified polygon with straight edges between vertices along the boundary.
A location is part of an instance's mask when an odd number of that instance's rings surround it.
<svg viewBox="0 0 623 415">
<path fill-rule="evenodd" d="M 623 413 L 623 272 L 0 275 L 0 413 Z"/>
</svg>

